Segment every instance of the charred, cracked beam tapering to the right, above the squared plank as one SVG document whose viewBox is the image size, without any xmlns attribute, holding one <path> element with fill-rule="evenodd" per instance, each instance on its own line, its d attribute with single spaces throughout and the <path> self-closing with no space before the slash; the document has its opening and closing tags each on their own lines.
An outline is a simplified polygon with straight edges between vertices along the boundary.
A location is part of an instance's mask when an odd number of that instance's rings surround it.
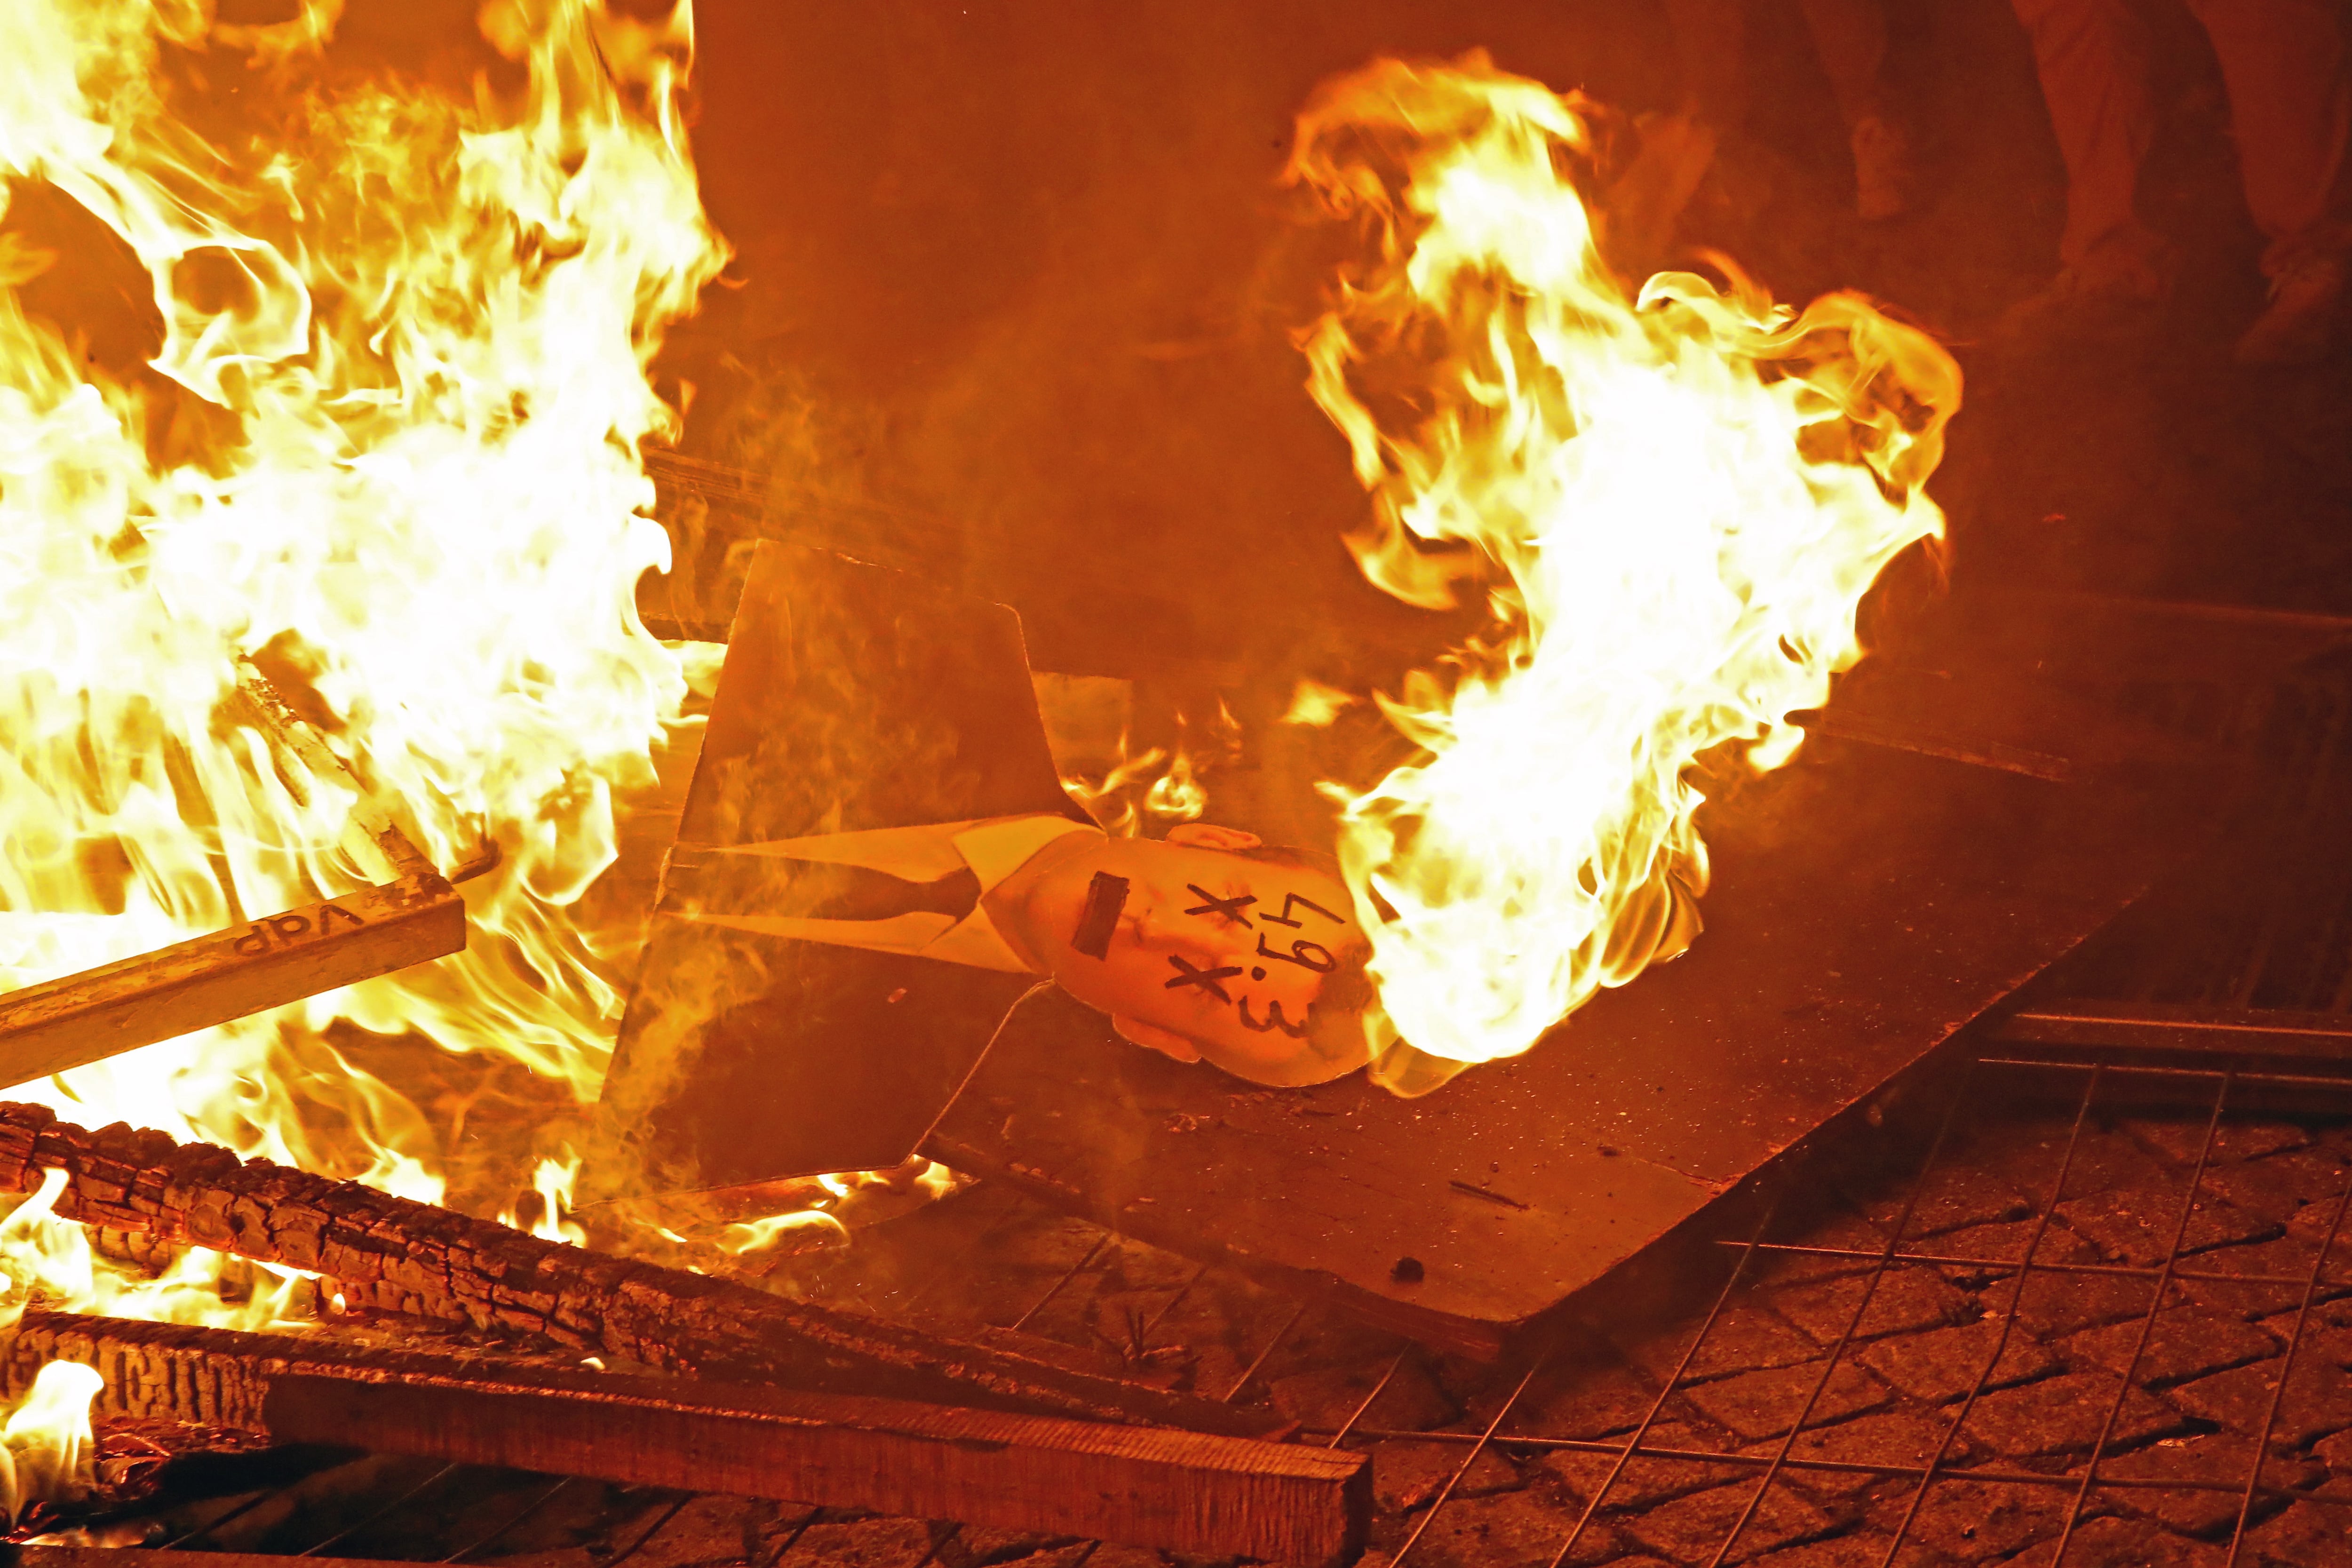
<svg viewBox="0 0 2352 1568">
<path fill-rule="evenodd" d="M 0 1192 L 33 1192 L 42 1171 L 66 1173 L 56 1213 L 82 1225 L 325 1274 L 350 1307 L 541 1335 L 656 1371 L 1242 1436 L 1279 1422 L 1270 1410 L 541 1241 L 214 1145 L 125 1124 L 92 1133 L 47 1107 L 0 1103 Z"/>
</svg>

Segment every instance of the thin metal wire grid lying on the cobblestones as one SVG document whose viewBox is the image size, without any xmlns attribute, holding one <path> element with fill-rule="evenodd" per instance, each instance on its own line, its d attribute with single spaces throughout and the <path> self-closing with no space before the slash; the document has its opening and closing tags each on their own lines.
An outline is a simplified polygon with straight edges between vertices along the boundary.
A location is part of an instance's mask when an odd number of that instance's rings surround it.
<svg viewBox="0 0 2352 1568">
<path fill-rule="evenodd" d="M 2183 1262 L 2192 1255 L 2185 1251 L 2190 1237 L 2190 1225 L 2204 1208 L 2209 1192 L 2209 1164 L 2216 1147 L 2216 1135 L 2223 1131 L 2225 1119 L 2232 1112 L 2232 1098 L 2241 1098 L 2249 1091 L 2279 1091 L 2279 1088 L 2343 1088 L 2340 1081 L 2317 1081 L 2317 1079 L 2293 1079 L 2284 1074 L 2232 1074 L 2232 1072 L 2183 1072 L 2161 1067 L 2112 1067 L 2112 1065 L 2070 1065 L 2070 1063 L 2020 1063 L 2020 1060 L 1983 1060 L 1973 1067 L 1976 1081 L 1962 1093 L 1947 1098 L 1947 1110 L 1943 1124 L 1938 1126 L 1926 1159 L 1919 1164 L 1917 1173 L 1905 1187 L 1905 1197 L 1896 1218 L 1884 1227 L 1884 1239 L 1877 1246 L 1820 1246 L 1804 1241 L 1771 1241 L 1773 1218 L 1766 1213 L 1764 1225 L 1748 1239 L 1729 1244 L 1736 1248 L 1736 1262 L 1729 1269 L 1715 1302 L 1700 1316 L 1698 1328 L 1691 1333 L 1682 1356 L 1677 1359 L 1672 1375 L 1663 1380 L 1649 1401 L 1646 1410 L 1621 1439 L 1578 1439 L 1578 1436 L 1545 1436 L 1541 1432 L 1519 1429 L 1515 1418 L 1522 1410 L 1526 1392 L 1548 1373 L 1548 1363 L 1538 1361 L 1529 1366 L 1510 1387 L 1510 1392 L 1494 1406 L 1491 1415 L 1470 1432 L 1388 1432 L 1367 1429 L 1357 1425 L 1355 1418 L 1334 1434 L 1329 1441 L 1385 1441 L 1385 1443 L 1451 1443 L 1463 1448 L 1461 1462 L 1454 1467 L 1444 1488 L 1437 1493 L 1435 1502 L 1418 1514 L 1402 1542 L 1395 1547 L 1392 1568 L 1402 1568 L 1406 1561 L 1421 1561 L 1430 1556 L 1425 1542 L 1432 1533 L 1442 1533 L 1442 1521 L 1446 1519 L 1449 1505 L 1463 1490 L 1465 1479 L 1475 1472 L 1479 1460 L 1489 1450 L 1503 1450 L 1512 1458 L 1531 1458 L 1543 1453 L 1576 1453 L 1576 1455 L 1599 1455 L 1606 1460 L 1604 1474 L 1595 1486 L 1583 1488 L 1581 1509 L 1573 1512 L 1571 1523 L 1564 1528 L 1559 1544 L 1550 1552 L 1550 1568 L 1564 1568 L 1571 1561 L 1609 1561 L 1618 1556 L 1606 1542 L 1599 1540 L 1597 1521 L 1604 1521 L 1613 1509 L 1621 1507 L 1621 1488 L 1628 1479 L 1630 1467 L 1691 1467 L 1693 1472 L 1717 1472 L 1722 1467 L 1748 1472 L 1748 1493 L 1740 1505 L 1731 1512 L 1729 1526 L 1722 1530 L 1700 1556 L 1686 1561 L 1705 1561 L 1712 1566 L 1743 1561 L 1757 1552 L 1769 1552 L 1785 1547 L 1790 1542 L 1773 1540 L 1750 1540 L 1759 1514 L 1766 1509 L 1776 1488 L 1788 1486 L 1792 1479 L 1860 1479 L 1875 1483 L 1882 1493 L 1893 1495 L 1896 1507 L 1886 1507 L 1889 1497 L 1882 1495 L 1882 1507 L 1875 1509 L 1877 1519 L 1872 1528 L 1842 1533 L 1856 1552 L 1851 1559 L 1839 1561 L 1936 1561 L 1917 1540 L 1917 1526 L 1929 1507 L 1952 1505 L 1962 1509 L 1980 1509 L 1987 1488 L 2027 1488 L 2037 1493 L 2056 1495 L 2058 1530 L 2053 1542 L 2044 1544 L 2042 1554 L 2016 1559 L 2034 1563 L 2072 1563 L 2093 1561 L 2093 1556 L 2079 1554 L 2077 1547 L 2082 1530 L 2098 1516 L 2103 1516 L 2105 1505 L 2117 1495 L 2131 1495 L 2138 1505 L 2159 1493 L 2171 1495 L 2220 1495 L 2234 1500 L 2234 1516 L 2227 1523 L 2227 1535 L 2223 1542 L 2206 1540 L 2197 1542 L 2192 1537 L 2173 1537 L 2185 1552 L 2197 1547 L 2209 1547 L 2218 1563 L 2239 1563 L 2249 1540 L 2249 1526 L 2267 1514 L 2277 1514 L 2284 1505 L 2303 1507 L 2343 1507 L 2352 1509 L 2352 1490 L 2314 1490 L 2307 1486 L 2284 1486 L 2267 1479 L 2274 1469 L 2277 1455 L 2272 1455 L 2272 1439 L 2279 1427 L 2279 1413 L 2293 1387 L 2298 1371 L 2298 1356 L 2305 1354 L 2305 1333 L 2312 1321 L 2312 1307 L 2321 1295 L 2340 1295 L 2352 1291 L 2352 1272 L 2328 1272 L 2328 1260 L 2333 1255 L 2338 1234 L 2343 1229 L 2345 1208 L 2352 1204 L 2352 1168 L 2343 1190 L 2333 1197 L 2328 1208 L 2326 1232 L 2310 1248 L 2310 1265 L 2293 1272 L 2218 1272 L 2197 1269 Z M 1933 1190 L 1940 1161 L 1945 1157 L 1955 1124 L 1969 1114 L 1983 1114 L 1983 1107 L 1992 1103 L 1992 1095 L 1983 1093 L 1987 1088 L 1985 1079 L 1999 1077 L 2070 1077 L 2079 1079 L 2079 1091 L 2074 1095 L 2072 1119 L 2067 1124 L 2067 1135 L 2063 1143 L 2063 1154 L 2056 1164 L 2056 1175 L 2044 1190 L 2034 1215 L 2023 1237 L 2023 1246 L 2009 1258 L 1976 1258 L 1976 1255 L 1950 1255 L 1938 1251 L 1926 1251 L 1915 1244 L 1912 1227 L 1919 1213 L 1922 1199 Z M 2112 1262 L 2079 1262 L 2044 1255 L 2044 1244 L 2058 1222 L 2063 1204 L 2070 1199 L 2070 1180 L 2077 1171 L 2077 1154 L 2084 1143 L 2084 1128 L 2093 1119 L 2093 1112 L 2107 1112 L 2112 1107 L 2103 1105 L 2112 1091 L 2122 1084 L 2145 1084 L 2150 1079 L 2164 1079 L 2166 1086 L 2192 1084 L 2209 1093 L 2209 1105 L 2204 1114 L 2201 1138 L 2190 1166 L 2185 1187 L 2178 1194 L 2178 1204 L 2164 1225 L 2169 1227 L 2169 1239 L 2161 1258 L 2150 1267 L 2138 1265 L 2112 1265 Z M 1653 1432 L 1668 1420 L 1679 1394 L 1684 1394 L 1691 1382 L 1693 1361 L 1705 1352 L 1710 1338 L 1719 1335 L 1726 1324 L 1743 1309 L 1752 1305 L 1752 1274 L 1766 1260 L 1778 1258 L 1804 1258 L 1809 1262 L 1835 1260 L 1858 1269 L 1860 1291 L 1844 1321 L 1842 1333 L 1830 1345 L 1828 1356 L 1820 1359 L 1818 1373 L 1811 1375 L 1809 1385 L 1802 1387 L 1802 1399 L 1788 1418 L 1785 1432 L 1769 1443 L 1755 1443 L 1736 1450 L 1710 1450 L 1689 1448 L 1677 1443 L 1653 1441 Z M 1896 1458 L 1811 1458 L 1799 1453 L 1799 1441 L 1820 1427 L 1835 1425 L 1830 1420 L 1818 1420 L 1823 1413 L 1825 1396 L 1835 1387 L 1839 1371 L 1849 1366 L 1849 1352 L 1863 1335 L 1865 1321 L 1870 1316 L 1872 1300 L 1879 1298 L 1889 1279 L 1896 1279 L 1905 1269 L 1929 1269 L 1950 1272 L 1955 1267 L 1969 1272 L 1992 1272 L 2006 1276 L 2006 1302 L 1997 1316 L 1997 1333 L 1990 1335 L 1990 1349 L 1983 1354 L 1980 1366 L 1969 1382 L 1964 1396 L 1943 1415 L 1943 1429 L 1933 1448 L 1926 1453 L 1924 1462 L 1907 1462 Z M 1959 1446 L 1964 1434 L 1969 1434 L 1971 1418 L 1978 1415 L 1980 1403 L 1990 1389 L 1997 1387 L 1997 1368 L 2004 1363 L 2004 1354 L 2011 1349 L 2013 1335 L 2018 1335 L 2018 1309 L 2025 1300 L 2027 1281 L 2053 1279 L 2063 1281 L 2070 1276 L 2103 1276 L 2110 1281 L 2143 1281 L 2147 1286 L 2147 1302 L 2138 1319 L 2138 1335 L 2131 1347 L 2129 1361 L 2122 1375 L 2114 1378 L 2112 1399 L 2105 1406 L 2103 1420 L 2098 1422 L 2098 1434 L 2089 1446 L 2089 1453 L 2079 1462 L 2030 1467 L 2030 1465 L 1994 1465 L 1994 1462 L 1959 1462 Z M 1851 1276 L 1849 1276 L 1851 1279 Z M 2119 1429 L 2126 1418 L 2126 1408 L 2133 1396 L 2143 1392 L 2143 1363 L 2147 1359 L 2150 1340 L 2157 1333 L 2159 1319 L 2166 1307 L 2176 1305 L 2176 1288 L 2190 1279 L 2204 1281 L 2227 1281 L 2232 1286 L 2288 1286 L 2296 1293 L 2293 1326 L 2286 1338 L 2284 1359 L 2277 1368 L 2272 1382 L 2272 1394 L 2267 1408 L 2263 1410 L 2258 1429 L 2251 1434 L 2251 1458 L 2234 1474 L 2190 1474 L 2190 1476 L 2133 1476 L 2114 1474 L 2110 1465 L 2119 1450 Z M 1390 1368 L 1395 1371 L 1395 1368 Z M 1806 1368 L 1811 1371 L 1811 1368 Z M 1383 1380 L 1385 1387 L 1385 1380 Z M 1362 1408 L 1369 1408 L 1378 1389 L 1367 1396 Z M 1357 1415 L 1362 1415 L 1362 1408 Z M 1668 1486 L 1649 1486 L 1644 1493 L 1672 1493 Z M 1969 1497 L 1962 1497 L 1969 1493 Z M 1639 1509 L 1642 1505 L 1632 1497 L 1623 1497 L 1623 1507 Z M 2345 1514 L 2345 1526 L 2352 1526 L 2352 1512 Z M 1456 1561 L 1470 1561 L 1458 1549 L 1451 1554 Z M 2096 1556 L 2096 1561 L 2110 1561 L 2107 1554 Z M 2140 1561 L 2140 1559 L 2133 1559 Z M 2192 1559 L 2183 1559 L 2192 1561 Z M 2244 1559 L 2251 1561 L 2251 1559 Z"/>
</svg>

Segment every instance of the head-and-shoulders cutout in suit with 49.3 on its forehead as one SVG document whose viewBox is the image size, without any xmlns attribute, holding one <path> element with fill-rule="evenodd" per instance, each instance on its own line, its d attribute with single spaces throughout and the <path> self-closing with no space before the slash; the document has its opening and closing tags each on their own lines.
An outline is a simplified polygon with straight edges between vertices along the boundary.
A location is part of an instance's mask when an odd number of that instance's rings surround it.
<svg viewBox="0 0 2352 1568">
<path fill-rule="evenodd" d="M 1364 940 L 1312 856 L 1110 839 L 1061 790 L 1014 611 L 764 543 L 604 1131 L 640 1192 L 903 1161 L 1030 987 L 1265 1084 L 1364 1060 Z"/>
</svg>

